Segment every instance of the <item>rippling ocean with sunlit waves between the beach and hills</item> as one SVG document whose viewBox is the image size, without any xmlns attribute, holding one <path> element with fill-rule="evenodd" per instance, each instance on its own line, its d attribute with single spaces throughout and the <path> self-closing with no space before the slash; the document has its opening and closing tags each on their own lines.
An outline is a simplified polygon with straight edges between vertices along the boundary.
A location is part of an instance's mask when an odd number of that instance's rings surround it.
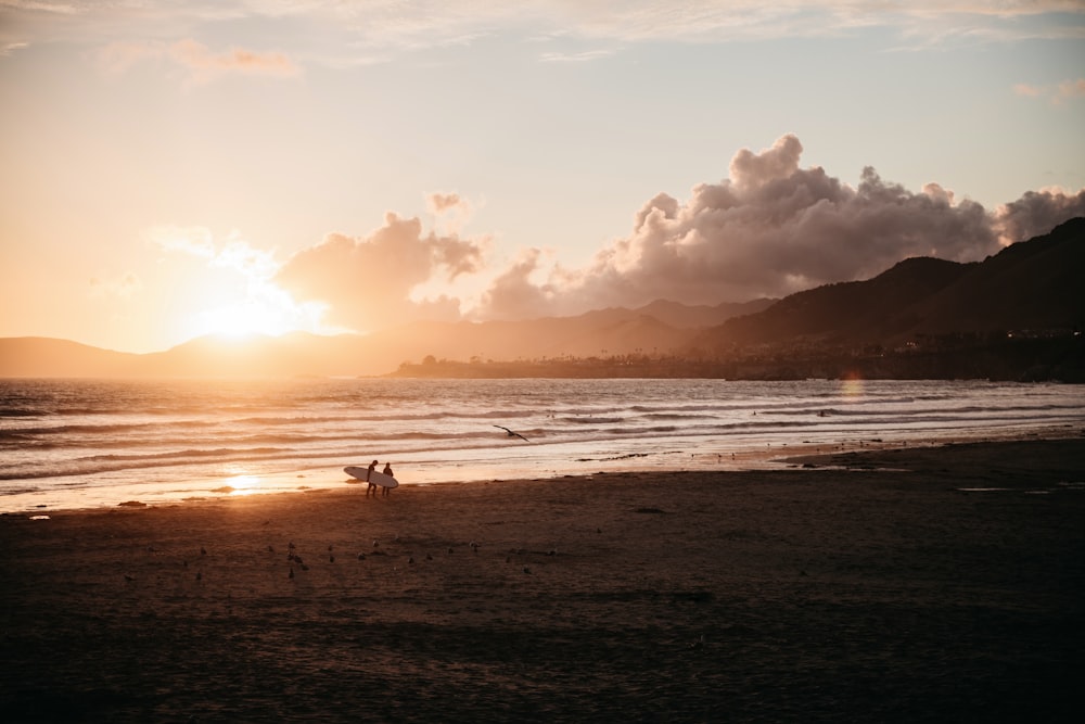
<svg viewBox="0 0 1085 724">
<path fill-rule="evenodd" d="M 1080 434 L 1085 388 L 984 381 L 0 380 L 0 511 Z M 523 435 L 510 436 L 500 427 Z"/>
</svg>

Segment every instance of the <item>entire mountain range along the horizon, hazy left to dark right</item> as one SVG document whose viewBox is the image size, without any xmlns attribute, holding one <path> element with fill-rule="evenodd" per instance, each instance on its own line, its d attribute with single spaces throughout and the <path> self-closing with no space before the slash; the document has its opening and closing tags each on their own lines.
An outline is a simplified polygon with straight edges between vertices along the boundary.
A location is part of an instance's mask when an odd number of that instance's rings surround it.
<svg viewBox="0 0 1085 724">
<path fill-rule="evenodd" d="M 0 377 L 373 376 L 425 357 L 459 361 L 623 355 L 726 358 L 794 345 L 893 347 L 946 335 L 1070 336 L 1085 321 L 1085 218 L 983 262 L 910 258 L 866 281 L 783 300 L 526 321 L 417 322 L 368 335 L 202 338 L 127 354 L 42 338 L 0 339 Z"/>
</svg>

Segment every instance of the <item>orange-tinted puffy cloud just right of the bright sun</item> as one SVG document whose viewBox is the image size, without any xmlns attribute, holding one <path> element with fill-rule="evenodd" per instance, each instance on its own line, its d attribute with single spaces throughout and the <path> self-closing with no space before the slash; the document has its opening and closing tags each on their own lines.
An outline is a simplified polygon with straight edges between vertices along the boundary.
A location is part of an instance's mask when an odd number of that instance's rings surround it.
<svg viewBox="0 0 1085 724">
<path fill-rule="evenodd" d="M 431 196 L 431 201 L 433 198 Z M 437 196 L 433 203 L 451 203 Z M 414 319 L 457 319 L 459 300 L 411 299 L 434 277 L 454 280 L 481 268 L 484 242 L 456 234 L 423 236 L 418 218 L 385 216 L 366 238 L 332 233 L 295 254 L 276 281 L 295 299 L 328 306 L 329 323 L 367 331 Z"/>
</svg>

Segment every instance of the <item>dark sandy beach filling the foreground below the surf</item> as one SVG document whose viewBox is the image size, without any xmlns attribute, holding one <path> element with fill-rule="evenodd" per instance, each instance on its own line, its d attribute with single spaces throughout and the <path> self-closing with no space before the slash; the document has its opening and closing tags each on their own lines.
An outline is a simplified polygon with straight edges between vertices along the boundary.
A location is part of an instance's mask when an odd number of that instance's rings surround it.
<svg viewBox="0 0 1085 724">
<path fill-rule="evenodd" d="M 834 462 L 3 516 L 0 719 L 1081 721 L 1085 440 Z"/>
</svg>

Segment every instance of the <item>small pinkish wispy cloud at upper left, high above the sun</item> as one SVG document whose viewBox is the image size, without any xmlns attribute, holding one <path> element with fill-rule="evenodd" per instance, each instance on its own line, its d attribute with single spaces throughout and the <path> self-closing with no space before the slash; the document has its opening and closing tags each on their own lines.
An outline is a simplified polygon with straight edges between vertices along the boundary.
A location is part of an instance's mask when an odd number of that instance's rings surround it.
<svg viewBox="0 0 1085 724">
<path fill-rule="evenodd" d="M 100 66 L 112 74 L 122 74 L 143 62 L 167 61 L 181 67 L 192 84 L 206 84 L 227 74 L 270 75 L 292 77 L 299 68 L 282 53 L 258 53 L 231 48 L 215 53 L 192 39 L 164 42 L 114 42 L 98 55 Z"/>
</svg>

